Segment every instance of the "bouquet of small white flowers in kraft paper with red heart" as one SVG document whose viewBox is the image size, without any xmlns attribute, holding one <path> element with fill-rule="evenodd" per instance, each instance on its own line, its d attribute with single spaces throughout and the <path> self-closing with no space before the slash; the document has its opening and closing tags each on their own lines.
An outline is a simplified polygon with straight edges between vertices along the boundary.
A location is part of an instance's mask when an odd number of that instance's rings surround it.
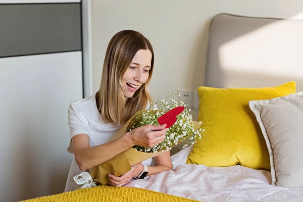
<svg viewBox="0 0 303 202">
<path fill-rule="evenodd" d="M 89 172 L 93 181 L 105 185 L 109 181 L 108 173 L 112 173 L 115 176 L 123 175 L 131 170 L 131 166 L 158 156 L 162 152 L 172 149 L 178 143 L 183 142 L 184 148 L 194 144 L 197 139 L 201 138 L 201 133 L 204 132 L 200 128 L 202 123 L 192 120 L 192 116 L 189 114 L 190 109 L 187 109 L 183 102 L 180 102 L 180 105 L 174 99 L 170 99 L 170 102 L 168 102 L 167 99 L 171 95 L 167 96 L 166 99 L 158 100 L 148 110 L 135 113 L 110 141 L 121 137 L 128 131 L 147 124 L 167 124 L 165 140 L 153 148 L 135 145 L 107 162 L 90 169 Z M 180 92 L 176 95 L 180 96 Z"/>
</svg>

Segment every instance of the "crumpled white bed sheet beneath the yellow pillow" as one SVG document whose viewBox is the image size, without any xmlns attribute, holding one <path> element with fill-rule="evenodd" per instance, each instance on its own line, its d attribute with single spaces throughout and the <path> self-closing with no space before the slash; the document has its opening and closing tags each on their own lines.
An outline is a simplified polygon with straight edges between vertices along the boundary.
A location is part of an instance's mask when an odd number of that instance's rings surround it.
<svg viewBox="0 0 303 202">
<path fill-rule="evenodd" d="M 130 181 L 125 186 L 199 201 L 303 201 L 303 188 L 271 185 L 268 171 L 242 166 L 206 167 L 185 164 L 192 147 L 172 156 L 173 170 Z"/>
</svg>

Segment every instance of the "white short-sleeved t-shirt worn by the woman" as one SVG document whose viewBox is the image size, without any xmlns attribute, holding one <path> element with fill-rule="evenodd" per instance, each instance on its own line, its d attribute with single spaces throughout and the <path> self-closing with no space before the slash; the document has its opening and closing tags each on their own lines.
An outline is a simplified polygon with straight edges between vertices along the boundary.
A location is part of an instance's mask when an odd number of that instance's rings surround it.
<svg viewBox="0 0 303 202">
<path fill-rule="evenodd" d="M 77 134 L 87 134 L 90 146 L 107 143 L 122 127 L 118 124 L 105 123 L 103 121 L 97 109 L 95 94 L 72 102 L 68 109 L 68 121 L 71 139 Z M 73 154 L 71 143 L 68 147 L 68 152 Z M 143 161 L 142 164 L 150 166 L 152 160 L 153 158 L 148 159 Z M 69 170 L 65 191 L 77 189 L 79 185 L 75 183 L 73 177 L 82 172 L 84 171 L 79 169 L 74 157 Z"/>
</svg>

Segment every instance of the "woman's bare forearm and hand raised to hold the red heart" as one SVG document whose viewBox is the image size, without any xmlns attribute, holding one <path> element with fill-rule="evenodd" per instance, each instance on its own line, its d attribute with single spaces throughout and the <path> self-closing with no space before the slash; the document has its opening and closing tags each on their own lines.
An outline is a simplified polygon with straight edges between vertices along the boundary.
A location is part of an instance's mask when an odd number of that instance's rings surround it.
<svg viewBox="0 0 303 202">
<path fill-rule="evenodd" d="M 75 135 L 72 138 L 75 160 L 80 170 L 88 170 L 112 159 L 134 145 L 151 148 L 165 139 L 165 126 L 141 126 L 114 141 L 97 146 L 90 146 L 87 134 Z"/>
</svg>

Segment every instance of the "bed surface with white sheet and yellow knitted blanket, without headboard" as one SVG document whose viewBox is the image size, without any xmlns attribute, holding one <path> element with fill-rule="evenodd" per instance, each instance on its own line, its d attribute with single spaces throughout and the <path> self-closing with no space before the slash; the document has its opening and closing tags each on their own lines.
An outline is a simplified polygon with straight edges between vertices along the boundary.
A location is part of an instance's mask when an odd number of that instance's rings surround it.
<svg viewBox="0 0 303 202">
<path fill-rule="evenodd" d="M 97 186 L 36 201 L 302 201 L 303 188 L 271 185 L 269 171 L 243 166 L 207 167 L 185 164 L 192 147 L 172 156 L 173 170 L 130 181 L 124 187 Z"/>
</svg>

